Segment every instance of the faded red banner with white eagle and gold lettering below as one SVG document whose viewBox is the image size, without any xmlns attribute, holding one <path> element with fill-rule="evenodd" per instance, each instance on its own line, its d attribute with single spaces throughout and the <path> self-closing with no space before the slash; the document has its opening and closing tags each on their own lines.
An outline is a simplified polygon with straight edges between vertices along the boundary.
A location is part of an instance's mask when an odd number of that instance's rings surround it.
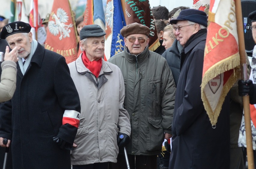
<svg viewBox="0 0 256 169">
<path fill-rule="evenodd" d="M 66 63 L 77 59 L 77 30 L 69 0 L 53 1 L 45 48 L 61 54 Z"/>
</svg>

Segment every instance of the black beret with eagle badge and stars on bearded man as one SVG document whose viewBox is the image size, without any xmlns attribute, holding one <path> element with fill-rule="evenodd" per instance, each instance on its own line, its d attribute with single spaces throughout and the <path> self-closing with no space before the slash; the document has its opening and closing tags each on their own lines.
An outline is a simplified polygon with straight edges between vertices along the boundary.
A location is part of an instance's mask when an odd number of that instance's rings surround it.
<svg viewBox="0 0 256 169">
<path fill-rule="evenodd" d="M 31 26 L 28 23 L 17 21 L 5 25 L 0 33 L 0 38 L 5 39 L 7 36 L 17 33 L 29 33 Z"/>
</svg>

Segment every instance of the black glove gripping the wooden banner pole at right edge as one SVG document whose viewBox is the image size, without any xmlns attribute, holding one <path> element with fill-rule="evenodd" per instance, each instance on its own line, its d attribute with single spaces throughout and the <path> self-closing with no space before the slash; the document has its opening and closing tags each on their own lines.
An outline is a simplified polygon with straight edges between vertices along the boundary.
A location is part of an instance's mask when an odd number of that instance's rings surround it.
<svg viewBox="0 0 256 169">
<path fill-rule="evenodd" d="M 238 81 L 238 93 L 239 96 L 253 95 L 254 86 L 251 80 L 239 80 Z"/>
</svg>

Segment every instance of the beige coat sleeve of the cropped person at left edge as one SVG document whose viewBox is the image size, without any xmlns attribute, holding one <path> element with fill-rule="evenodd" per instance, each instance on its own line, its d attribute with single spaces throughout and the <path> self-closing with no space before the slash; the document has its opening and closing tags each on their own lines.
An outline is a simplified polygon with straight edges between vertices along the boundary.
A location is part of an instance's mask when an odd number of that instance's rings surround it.
<svg viewBox="0 0 256 169">
<path fill-rule="evenodd" d="M 1 67 L 0 102 L 4 102 L 12 98 L 16 89 L 17 64 L 7 60 L 1 64 Z"/>
</svg>

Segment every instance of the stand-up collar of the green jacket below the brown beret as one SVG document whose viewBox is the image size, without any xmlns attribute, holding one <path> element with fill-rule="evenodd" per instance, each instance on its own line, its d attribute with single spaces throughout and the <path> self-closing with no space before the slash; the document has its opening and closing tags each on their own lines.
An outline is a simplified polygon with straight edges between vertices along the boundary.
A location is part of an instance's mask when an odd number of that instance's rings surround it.
<svg viewBox="0 0 256 169">
<path fill-rule="evenodd" d="M 125 53 L 124 57 L 128 62 L 130 62 L 130 63 L 136 62 L 136 57 L 135 57 L 136 55 L 130 54 L 128 52 L 128 48 L 126 46 L 124 47 L 124 53 Z M 148 56 L 149 56 L 148 46 L 145 48 L 145 50 L 143 52 L 141 52 L 137 56 L 138 56 L 137 58 L 138 58 L 139 64 L 146 62 L 146 60 L 148 59 Z"/>
</svg>

